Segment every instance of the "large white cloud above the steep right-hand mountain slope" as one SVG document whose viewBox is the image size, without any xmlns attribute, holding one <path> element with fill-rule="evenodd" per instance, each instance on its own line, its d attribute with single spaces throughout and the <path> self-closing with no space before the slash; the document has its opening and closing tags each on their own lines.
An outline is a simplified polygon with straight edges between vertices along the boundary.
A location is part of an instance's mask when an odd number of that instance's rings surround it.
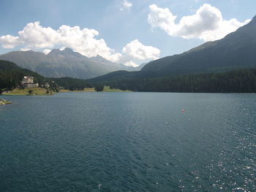
<svg viewBox="0 0 256 192">
<path fill-rule="evenodd" d="M 149 9 L 148 23 L 152 28 L 162 28 L 173 37 L 199 38 L 206 42 L 222 39 L 250 21 L 239 22 L 235 18 L 224 20 L 219 9 L 212 7 L 211 4 L 203 4 L 195 15 L 184 16 L 177 24 L 176 15 L 173 15 L 168 8 L 151 4 Z"/>
</svg>

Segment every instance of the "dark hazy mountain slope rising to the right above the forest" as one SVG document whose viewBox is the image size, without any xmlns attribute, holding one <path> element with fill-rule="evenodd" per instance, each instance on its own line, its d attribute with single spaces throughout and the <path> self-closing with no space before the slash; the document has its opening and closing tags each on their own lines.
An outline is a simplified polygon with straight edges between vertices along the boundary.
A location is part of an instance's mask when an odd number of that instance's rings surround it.
<svg viewBox="0 0 256 192">
<path fill-rule="evenodd" d="M 140 72 L 113 72 L 91 81 L 168 77 L 178 74 L 227 72 L 256 66 L 256 16 L 225 38 L 206 42 L 185 53 L 151 61 Z"/>
</svg>

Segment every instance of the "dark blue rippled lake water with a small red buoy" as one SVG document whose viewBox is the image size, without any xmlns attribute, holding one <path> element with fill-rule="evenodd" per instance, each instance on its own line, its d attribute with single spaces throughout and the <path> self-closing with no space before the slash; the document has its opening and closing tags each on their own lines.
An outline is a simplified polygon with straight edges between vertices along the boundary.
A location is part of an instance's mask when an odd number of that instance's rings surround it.
<svg viewBox="0 0 256 192">
<path fill-rule="evenodd" d="M 256 191 L 255 94 L 1 98 L 1 192 Z"/>
</svg>

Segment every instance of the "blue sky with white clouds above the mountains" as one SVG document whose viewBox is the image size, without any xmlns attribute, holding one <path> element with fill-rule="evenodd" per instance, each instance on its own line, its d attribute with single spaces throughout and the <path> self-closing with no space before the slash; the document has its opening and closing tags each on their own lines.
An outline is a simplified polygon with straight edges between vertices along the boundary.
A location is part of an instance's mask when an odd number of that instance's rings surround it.
<svg viewBox="0 0 256 192">
<path fill-rule="evenodd" d="M 255 15 L 255 0 L 1 0 L 0 54 L 70 47 L 138 66 L 222 39 Z"/>
</svg>

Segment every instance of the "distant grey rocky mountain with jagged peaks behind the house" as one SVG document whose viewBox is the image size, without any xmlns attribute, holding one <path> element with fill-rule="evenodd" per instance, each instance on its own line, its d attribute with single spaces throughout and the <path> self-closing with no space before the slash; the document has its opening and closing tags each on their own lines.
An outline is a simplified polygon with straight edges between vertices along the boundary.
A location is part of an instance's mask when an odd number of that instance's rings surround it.
<svg viewBox="0 0 256 192">
<path fill-rule="evenodd" d="M 45 55 L 41 52 L 13 51 L 0 55 L 0 59 L 12 61 L 45 77 L 76 77 L 88 79 L 117 70 L 136 70 L 133 67 L 116 64 L 97 55 L 88 58 L 70 48 L 53 49 Z M 137 69 L 138 70 L 138 69 Z"/>
</svg>

